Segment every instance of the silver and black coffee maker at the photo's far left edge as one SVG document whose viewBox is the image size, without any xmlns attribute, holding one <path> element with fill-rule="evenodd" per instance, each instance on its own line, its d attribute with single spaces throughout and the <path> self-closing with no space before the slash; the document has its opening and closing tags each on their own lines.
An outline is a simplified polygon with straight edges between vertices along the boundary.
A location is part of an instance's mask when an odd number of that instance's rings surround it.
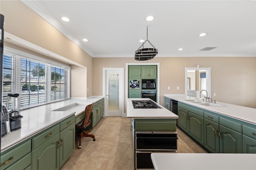
<svg viewBox="0 0 256 170">
<path fill-rule="evenodd" d="M 2 137 L 6 134 L 9 134 L 10 130 L 10 117 L 5 105 L 2 106 Z"/>
</svg>

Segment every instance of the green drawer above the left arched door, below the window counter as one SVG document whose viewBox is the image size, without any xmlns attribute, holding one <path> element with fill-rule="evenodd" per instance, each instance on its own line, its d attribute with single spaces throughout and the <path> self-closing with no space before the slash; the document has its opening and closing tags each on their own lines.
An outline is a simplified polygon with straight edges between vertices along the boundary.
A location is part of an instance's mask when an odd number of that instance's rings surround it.
<svg viewBox="0 0 256 170">
<path fill-rule="evenodd" d="M 50 140 L 53 136 L 60 133 L 60 125 L 56 125 L 55 127 L 42 132 L 38 136 L 32 138 L 32 150 L 43 144 L 44 142 Z"/>
</svg>

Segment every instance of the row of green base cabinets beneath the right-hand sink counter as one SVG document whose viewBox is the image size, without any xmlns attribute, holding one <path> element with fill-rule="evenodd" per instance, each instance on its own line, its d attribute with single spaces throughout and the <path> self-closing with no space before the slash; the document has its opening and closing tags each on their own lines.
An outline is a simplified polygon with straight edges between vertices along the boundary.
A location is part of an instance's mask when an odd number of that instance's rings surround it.
<svg viewBox="0 0 256 170">
<path fill-rule="evenodd" d="M 182 102 L 178 116 L 178 127 L 212 153 L 256 153 L 255 125 Z"/>
</svg>

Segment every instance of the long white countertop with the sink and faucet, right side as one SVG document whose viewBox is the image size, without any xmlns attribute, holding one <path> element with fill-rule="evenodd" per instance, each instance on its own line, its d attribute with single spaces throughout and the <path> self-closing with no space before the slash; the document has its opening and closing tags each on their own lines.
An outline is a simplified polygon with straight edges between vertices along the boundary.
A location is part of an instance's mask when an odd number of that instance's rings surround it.
<svg viewBox="0 0 256 170">
<path fill-rule="evenodd" d="M 234 119 L 238 119 L 240 121 L 245 121 L 251 124 L 256 125 L 256 109 L 250 107 L 243 107 L 238 105 L 232 105 L 228 103 L 221 103 L 216 101 L 217 104 L 225 105 L 220 107 L 213 107 L 213 106 L 203 106 L 196 103 L 191 103 L 185 101 L 186 99 L 196 99 L 195 97 L 189 97 L 186 95 L 164 95 L 170 99 L 174 99 L 176 101 L 180 101 L 182 103 L 186 103 L 188 105 L 196 106 L 208 111 L 212 111 L 215 113 L 219 113 L 221 115 L 225 115 L 228 117 L 232 117 Z"/>
</svg>

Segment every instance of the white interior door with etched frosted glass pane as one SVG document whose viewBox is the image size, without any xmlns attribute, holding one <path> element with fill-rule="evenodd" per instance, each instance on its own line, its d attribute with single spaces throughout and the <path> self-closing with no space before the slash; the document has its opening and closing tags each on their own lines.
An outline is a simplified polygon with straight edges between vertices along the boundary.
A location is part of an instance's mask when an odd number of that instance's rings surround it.
<svg viewBox="0 0 256 170">
<path fill-rule="evenodd" d="M 103 68 L 105 117 L 123 116 L 124 68 Z"/>
</svg>

